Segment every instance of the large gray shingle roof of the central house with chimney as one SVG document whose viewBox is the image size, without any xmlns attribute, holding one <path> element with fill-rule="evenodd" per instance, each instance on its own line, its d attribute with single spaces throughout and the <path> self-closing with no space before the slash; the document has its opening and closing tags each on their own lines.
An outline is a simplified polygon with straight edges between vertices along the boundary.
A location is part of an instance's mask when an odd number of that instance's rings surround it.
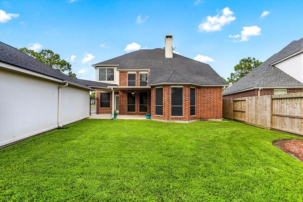
<svg viewBox="0 0 303 202">
<path fill-rule="evenodd" d="M 165 58 L 164 49 L 138 50 L 95 65 L 119 65 L 118 70 L 150 69 L 149 85 L 162 81 L 190 82 L 198 85 L 226 85 L 224 79 L 208 64 L 176 53 L 173 53 L 172 58 Z"/>
</svg>

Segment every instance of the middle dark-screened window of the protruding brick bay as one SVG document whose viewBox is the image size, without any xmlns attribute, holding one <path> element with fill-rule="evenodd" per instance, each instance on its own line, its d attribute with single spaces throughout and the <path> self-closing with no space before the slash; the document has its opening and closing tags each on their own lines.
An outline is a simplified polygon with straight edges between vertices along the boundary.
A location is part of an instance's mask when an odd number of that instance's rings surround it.
<svg viewBox="0 0 303 202">
<path fill-rule="evenodd" d="M 183 116 L 183 88 L 171 88 L 171 116 Z"/>
</svg>

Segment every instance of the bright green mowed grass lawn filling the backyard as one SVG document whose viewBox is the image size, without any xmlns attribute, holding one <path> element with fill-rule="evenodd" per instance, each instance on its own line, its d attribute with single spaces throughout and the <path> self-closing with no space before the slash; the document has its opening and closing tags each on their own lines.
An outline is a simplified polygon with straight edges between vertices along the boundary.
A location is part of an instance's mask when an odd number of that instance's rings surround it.
<svg viewBox="0 0 303 202">
<path fill-rule="evenodd" d="M 303 201 L 298 137 L 235 121 L 84 120 L 0 150 L 0 201 Z"/>
</svg>

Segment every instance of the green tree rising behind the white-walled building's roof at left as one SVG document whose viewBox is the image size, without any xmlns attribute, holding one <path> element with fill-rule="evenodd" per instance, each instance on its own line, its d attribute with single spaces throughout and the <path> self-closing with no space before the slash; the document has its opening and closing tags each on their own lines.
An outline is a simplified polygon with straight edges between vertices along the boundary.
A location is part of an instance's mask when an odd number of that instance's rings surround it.
<svg viewBox="0 0 303 202">
<path fill-rule="evenodd" d="M 76 74 L 72 72 L 72 65 L 66 60 L 60 59 L 60 55 L 54 53 L 51 50 L 42 49 L 40 52 L 35 52 L 27 48 L 20 48 L 19 51 L 32 56 L 36 60 L 43 62 L 44 64 L 58 70 L 59 72 L 65 73 L 72 78 L 77 78 Z"/>
</svg>

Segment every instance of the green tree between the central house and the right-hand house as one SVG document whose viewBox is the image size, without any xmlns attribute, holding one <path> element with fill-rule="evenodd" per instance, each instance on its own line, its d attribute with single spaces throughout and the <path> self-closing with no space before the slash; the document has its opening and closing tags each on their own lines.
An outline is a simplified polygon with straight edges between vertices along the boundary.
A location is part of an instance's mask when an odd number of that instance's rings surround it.
<svg viewBox="0 0 303 202">
<path fill-rule="evenodd" d="M 251 72 L 253 69 L 261 65 L 262 62 L 259 60 L 256 60 L 255 58 L 244 58 L 241 59 L 239 64 L 237 64 L 234 69 L 234 73 L 230 73 L 230 77 L 227 78 L 227 83 L 229 85 L 234 84 L 239 79 L 241 79 L 243 76 Z"/>
</svg>

